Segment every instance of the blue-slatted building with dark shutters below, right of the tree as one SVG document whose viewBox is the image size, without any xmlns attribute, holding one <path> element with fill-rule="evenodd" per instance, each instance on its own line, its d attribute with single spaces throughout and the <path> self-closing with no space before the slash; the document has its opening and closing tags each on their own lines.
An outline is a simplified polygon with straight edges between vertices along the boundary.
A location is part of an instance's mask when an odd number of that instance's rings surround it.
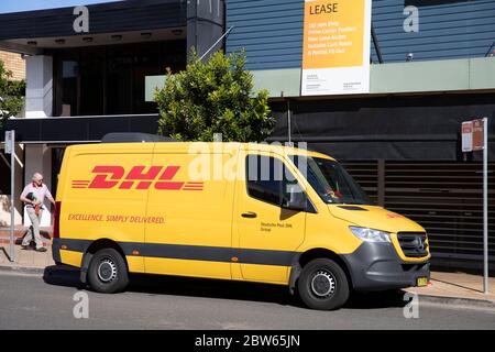
<svg viewBox="0 0 495 352">
<path fill-rule="evenodd" d="M 245 51 L 278 117 L 270 140 L 334 156 L 378 205 L 427 229 L 433 262 L 480 268 L 481 153 L 461 152 L 460 129 L 490 118 L 493 267 L 495 2 L 373 0 L 366 95 L 301 96 L 304 14 L 304 0 L 227 1 L 227 52 Z"/>
</svg>

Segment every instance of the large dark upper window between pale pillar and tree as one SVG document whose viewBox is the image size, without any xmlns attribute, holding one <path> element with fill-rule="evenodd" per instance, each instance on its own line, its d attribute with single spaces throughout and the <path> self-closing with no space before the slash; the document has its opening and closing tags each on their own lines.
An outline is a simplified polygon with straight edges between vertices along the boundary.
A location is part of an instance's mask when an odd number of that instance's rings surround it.
<svg viewBox="0 0 495 352">
<path fill-rule="evenodd" d="M 156 113 L 145 101 L 145 77 L 186 68 L 186 42 L 56 50 L 54 116 Z"/>
</svg>

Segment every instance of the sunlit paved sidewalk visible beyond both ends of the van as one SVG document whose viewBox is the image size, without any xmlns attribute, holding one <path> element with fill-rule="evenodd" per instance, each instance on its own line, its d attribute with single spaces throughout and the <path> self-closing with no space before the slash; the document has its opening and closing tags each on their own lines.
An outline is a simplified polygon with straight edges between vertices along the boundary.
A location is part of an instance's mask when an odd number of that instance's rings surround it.
<svg viewBox="0 0 495 352">
<path fill-rule="evenodd" d="M 15 262 L 9 261 L 10 230 L 0 228 L 0 270 L 33 271 L 42 273 L 46 266 L 55 265 L 52 258 L 52 228 L 42 228 L 44 246 L 47 252 L 40 253 L 21 249 L 21 238 L 25 228 L 15 231 Z M 490 293 L 483 294 L 482 275 L 465 273 L 431 272 L 431 282 L 427 287 L 410 287 L 405 289 L 416 293 L 425 300 L 449 304 L 468 304 L 495 308 L 495 277 L 490 277 Z"/>
</svg>

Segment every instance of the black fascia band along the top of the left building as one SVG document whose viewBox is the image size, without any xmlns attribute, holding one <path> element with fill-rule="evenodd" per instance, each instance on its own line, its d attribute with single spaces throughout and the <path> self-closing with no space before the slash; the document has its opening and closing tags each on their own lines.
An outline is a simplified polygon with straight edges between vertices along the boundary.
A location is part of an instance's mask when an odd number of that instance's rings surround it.
<svg viewBox="0 0 495 352">
<path fill-rule="evenodd" d="M 77 35 L 74 8 L 0 14 L 0 40 Z M 186 25 L 187 6 L 180 0 L 128 0 L 87 6 L 89 33 L 114 33 Z"/>
</svg>

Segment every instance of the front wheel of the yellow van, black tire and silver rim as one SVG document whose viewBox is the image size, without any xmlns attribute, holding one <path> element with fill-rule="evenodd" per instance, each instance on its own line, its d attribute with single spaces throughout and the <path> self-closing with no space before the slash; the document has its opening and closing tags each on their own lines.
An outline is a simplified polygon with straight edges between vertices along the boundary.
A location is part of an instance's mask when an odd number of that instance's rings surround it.
<svg viewBox="0 0 495 352">
<path fill-rule="evenodd" d="M 349 298 L 349 282 L 336 262 L 328 258 L 312 260 L 302 268 L 297 282 L 299 297 L 311 309 L 333 310 Z"/>
</svg>

